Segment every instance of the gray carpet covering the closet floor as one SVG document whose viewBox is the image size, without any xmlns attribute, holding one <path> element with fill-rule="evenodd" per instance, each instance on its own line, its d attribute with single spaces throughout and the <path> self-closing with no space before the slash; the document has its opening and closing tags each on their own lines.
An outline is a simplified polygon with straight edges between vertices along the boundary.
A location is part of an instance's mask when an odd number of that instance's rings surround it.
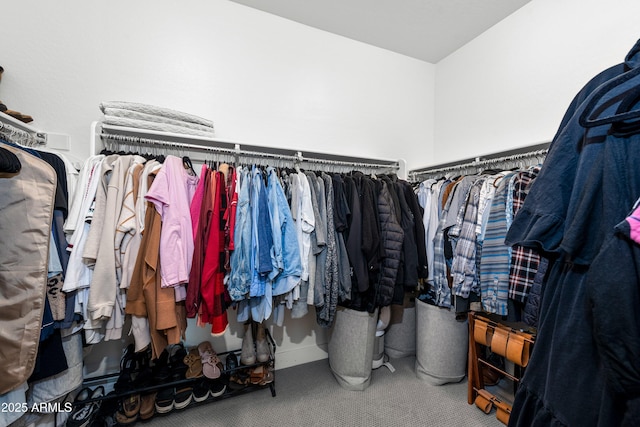
<svg viewBox="0 0 640 427">
<path fill-rule="evenodd" d="M 328 360 L 275 372 L 276 397 L 268 388 L 156 416 L 138 425 L 204 426 L 503 426 L 495 410 L 485 415 L 467 404 L 466 380 L 432 386 L 414 373 L 415 358 L 392 359 L 396 371 L 373 371 L 364 391 L 342 389 Z"/>
</svg>

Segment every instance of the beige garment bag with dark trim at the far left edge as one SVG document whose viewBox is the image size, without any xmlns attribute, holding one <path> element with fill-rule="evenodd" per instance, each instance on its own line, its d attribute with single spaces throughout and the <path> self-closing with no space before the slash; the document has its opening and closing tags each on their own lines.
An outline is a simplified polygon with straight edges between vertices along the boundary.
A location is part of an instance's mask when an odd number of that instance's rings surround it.
<svg viewBox="0 0 640 427">
<path fill-rule="evenodd" d="M 33 372 L 47 288 L 56 173 L 46 162 L 0 143 L 22 163 L 0 178 L 0 394 Z"/>
</svg>

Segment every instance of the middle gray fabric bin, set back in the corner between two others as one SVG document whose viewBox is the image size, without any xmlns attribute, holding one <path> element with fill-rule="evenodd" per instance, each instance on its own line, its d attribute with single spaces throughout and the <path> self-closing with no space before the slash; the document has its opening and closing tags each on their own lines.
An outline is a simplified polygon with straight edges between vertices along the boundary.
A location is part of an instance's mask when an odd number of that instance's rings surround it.
<svg viewBox="0 0 640 427">
<path fill-rule="evenodd" d="M 404 305 L 391 306 L 384 352 L 392 359 L 416 354 L 416 307 L 413 298 L 406 298 Z"/>
</svg>

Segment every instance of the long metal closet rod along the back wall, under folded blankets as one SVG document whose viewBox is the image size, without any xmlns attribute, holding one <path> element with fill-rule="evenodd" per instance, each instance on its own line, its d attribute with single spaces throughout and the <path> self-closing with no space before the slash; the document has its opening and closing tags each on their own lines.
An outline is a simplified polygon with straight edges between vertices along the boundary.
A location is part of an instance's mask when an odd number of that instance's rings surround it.
<svg viewBox="0 0 640 427">
<path fill-rule="evenodd" d="M 378 168 L 378 169 L 393 169 L 397 170 L 399 168 L 398 162 L 384 162 L 384 163 L 370 163 L 370 162 L 356 162 L 356 161 L 348 161 L 348 160 L 333 160 L 333 159 L 320 159 L 320 158 L 307 158 L 302 155 L 302 152 L 298 151 L 295 154 L 276 154 L 269 153 L 266 151 L 250 151 L 240 149 L 240 144 L 235 144 L 235 148 L 226 148 L 226 147 L 214 147 L 214 146 L 206 146 L 199 144 L 190 144 L 184 142 L 172 142 L 165 141 L 159 139 L 151 139 L 151 138 L 142 138 L 138 136 L 130 136 L 130 135 L 120 135 L 120 134 L 111 134 L 102 132 L 100 137 L 103 140 L 111 140 L 122 143 L 129 143 L 141 146 L 161 146 L 168 149 L 186 149 L 186 150 L 194 150 L 194 151 L 205 151 L 212 152 L 216 154 L 228 154 L 238 157 L 252 157 L 252 158 L 268 158 L 268 159 L 276 159 L 276 160 L 290 160 L 294 164 L 301 163 L 311 163 L 311 164 L 327 164 L 327 165 L 336 165 L 336 166 L 350 166 L 350 167 L 362 167 L 362 168 Z"/>
</svg>

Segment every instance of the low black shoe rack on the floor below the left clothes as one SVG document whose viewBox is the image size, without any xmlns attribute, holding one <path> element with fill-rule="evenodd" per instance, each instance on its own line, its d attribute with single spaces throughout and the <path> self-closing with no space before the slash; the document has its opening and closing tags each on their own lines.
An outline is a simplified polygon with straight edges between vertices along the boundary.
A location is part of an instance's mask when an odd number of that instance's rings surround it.
<svg viewBox="0 0 640 427">
<path fill-rule="evenodd" d="M 204 376 L 200 376 L 197 378 L 183 378 L 175 381 L 162 381 L 160 384 L 155 384 L 155 382 L 158 382 L 158 381 L 154 381 L 153 385 L 143 385 L 143 386 L 136 386 L 136 381 L 134 379 L 132 382 L 133 387 L 130 387 L 126 391 L 121 391 L 118 393 L 116 393 L 115 391 L 112 391 L 108 394 L 103 394 L 98 397 L 89 397 L 88 399 L 85 398 L 85 399 L 78 400 L 78 398 L 76 398 L 76 402 L 73 403 L 74 412 L 82 411 L 82 407 L 84 406 L 87 406 L 87 405 L 96 406 L 97 404 L 98 406 L 101 405 L 103 409 L 107 407 L 114 408 L 114 411 L 107 410 L 107 412 L 105 413 L 104 410 L 97 410 L 96 411 L 96 414 L 98 414 L 97 418 L 95 420 L 92 420 L 92 422 L 103 421 L 100 419 L 101 417 L 102 418 L 112 417 L 115 420 L 116 415 L 118 416 L 121 415 L 120 410 L 122 407 L 122 403 L 130 401 L 135 397 L 140 399 L 140 396 L 145 396 L 145 395 L 148 396 L 150 394 L 155 394 L 155 393 L 159 395 L 163 390 L 168 390 L 168 389 L 169 390 L 174 389 L 176 391 L 176 394 L 178 390 L 184 390 L 185 387 L 186 388 L 191 387 L 194 390 L 192 395 L 193 399 L 189 399 L 189 403 L 184 407 L 178 406 L 176 401 L 176 408 L 168 410 L 166 412 L 165 411 L 159 412 L 158 410 L 156 410 L 151 416 L 142 416 L 142 413 L 140 413 L 140 416 L 138 416 L 138 414 L 131 415 L 127 418 L 127 421 L 126 421 L 127 425 L 131 425 L 137 421 L 146 421 L 152 417 L 166 416 L 177 409 L 179 409 L 180 412 L 182 412 L 184 409 L 188 409 L 189 407 L 192 407 L 192 406 L 212 403 L 214 401 L 218 401 L 221 399 L 235 397 L 248 392 L 263 390 L 267 388 L 271 391 L 271 396 L 275 397 L 276 389 L 275 389 L 274 367 L 275 367 L 276 344 L 269 330 L 265 329 L 264 332 L 265 332 L 267 347 L 269 351 L 269 357 L 268 357 L 268 360 L 266 361 L 259 362 L 256 360 L 256 363 L 253 363 L 253 364 L 248 364 L 248 365 L 241 364 L 240 363 L 241 351 L 242 351 L 241 349 L 236 349 L 236 350 L 231 350 L 231 351 L 226 351 L 226 352 L 221 352 L 216 354 L 217 358 L 220 361 L 220 366 L 222 367 L 222 369 L 220 369 L 220 380 L 225 385 L 224 392 L 222 393 L 214 393 L 212 389 L 211 392 L 207 395 L 208 396 L 207 398 L 196 400 L 195 389 L 196 387 L 201 386 L 201 383 L 203 380 L 207 380 L 207 378 Z M 191 348 L 192 346 L 188 346 L 188 347 Z M 141 372 L 136 372 L 134 370 L 133 372 L 129 372 L 127 375 L 136 377 L 136 376 L 141 376 L 140 374 Z M 114 382 L 116 379 L 119 379 L 119 377 L 121 376 L 122 376 L 122 371 L 114 374 L 109 374 L 109 375 L 86 378 L 83 382 L 83 388 L 90 389 L 91 387 L 95 387 L 98 384 L 111 383 L 111 382 Z M 101 387 L 101 386 L 98 386 L 98 387 Z M 117 411 L 117 413 L 115 411 Z M 114 412 L 114 413 L 110 414 L 109 412 Z M 122 424 L 121 421 L 119 421 L 119 423 Z"/>
</svg>

